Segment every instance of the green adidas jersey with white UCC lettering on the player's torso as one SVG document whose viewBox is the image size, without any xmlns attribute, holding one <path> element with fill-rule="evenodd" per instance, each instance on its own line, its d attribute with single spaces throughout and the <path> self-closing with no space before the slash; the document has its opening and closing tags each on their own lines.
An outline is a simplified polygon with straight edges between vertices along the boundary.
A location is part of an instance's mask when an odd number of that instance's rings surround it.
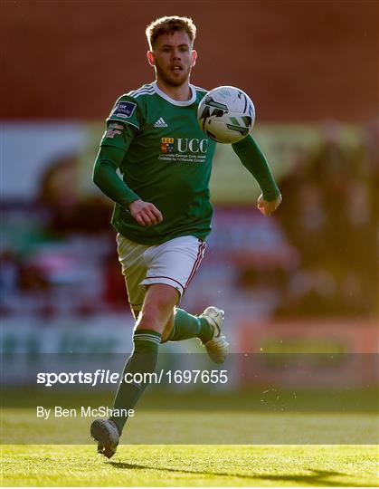
<svg viewBox="0 0 379 489">
<path fill-rule="evenodd" d="M 200 129 L 197 107 L 206 91 L 190 85 L 189 101 L 174 101 L 156 83 L 121 96 L 110 113 L 101 146 L 125 150 L 119 171 L 131 194 L 162 213 L 158 225 L 138 225 L 116 204 L 112 224 L 121 235 L 145 245 L 211 230 L 209 196 L 215 143 Z"/>
</svg>

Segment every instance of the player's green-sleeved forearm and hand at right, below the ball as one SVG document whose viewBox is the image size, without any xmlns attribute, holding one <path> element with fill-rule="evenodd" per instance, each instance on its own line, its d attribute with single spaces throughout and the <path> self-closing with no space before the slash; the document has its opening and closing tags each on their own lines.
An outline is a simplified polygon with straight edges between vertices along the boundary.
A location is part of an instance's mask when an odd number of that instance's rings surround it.
<svg viewBox="0 0 379 489">
<path fill-rule="evenodd" d="M 232 149 L 261 187 L 258 208 L 263 216 L 270 216 L 280 206 L 281 195 L 261 149 L 251 136 L 232 144 Z"/>
</svg>

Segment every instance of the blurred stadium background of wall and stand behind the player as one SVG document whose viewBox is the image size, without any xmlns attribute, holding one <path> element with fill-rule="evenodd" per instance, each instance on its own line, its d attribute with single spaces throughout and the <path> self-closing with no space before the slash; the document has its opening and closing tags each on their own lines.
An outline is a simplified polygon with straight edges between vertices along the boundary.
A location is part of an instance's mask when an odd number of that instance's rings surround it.
<svg viewBox="0 0 379 489">
<path fill-rule="evenodd" d="M 283 196 L 262 217 L 258 187 L 219 145 L 213 234 L 183 306 L 223 307 L 233 352 L 376 352 L 377 6 L 3 1 L 3 351 L 130 349 L 112 206 L 91 168 L 114 101 L 153 80 L 146 25 L 180 14 L 198 27 L 192 81 L 251 95 Z M 314 368 L 329 385 L 332 367 Z M 359 372 L 353 362 L 333 379 L 373 381 Z M 304 387 L 296 372 L 268 373 L 267 385 Z"/>
</svg>

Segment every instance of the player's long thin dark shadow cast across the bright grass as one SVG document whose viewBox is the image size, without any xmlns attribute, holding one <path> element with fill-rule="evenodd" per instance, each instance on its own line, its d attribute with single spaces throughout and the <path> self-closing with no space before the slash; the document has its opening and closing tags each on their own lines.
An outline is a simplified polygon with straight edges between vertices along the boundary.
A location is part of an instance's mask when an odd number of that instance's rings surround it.
<svg viewBox="0 0 379 489">
<path fill-rule="evenodd" d="M 248 475 L 248 474 L 233 474 L 229 472 L 201 472 L 196 470 L 187 469 L 175 469 L 167 467 L 156 467 L 152 465 L 139 465 L 139 464 L 125 464 L 124 462 L 109 462 L 109 465 L 113 465 L 118 469 L 132 469 L 132 470 L 157 470 L 161 472 L 174 472 L 176 474 L 193 474 L 193 475 L 215 475 L 217 477 L 237 477 L 240 479 L 262 479 L 268 481 L 287 481 L 296 482 L 306 485 L 317 485 L 325 487 L 362 487 L 362 484 L 353 484 L 351 480 L 346 484 L 336 481 L 328 481 L 327 478 L 334 475 L 346 475 L 340 472 L 333 472 L 327 470 L 315 470 L 308 469 L 312 474 L 309 475 Z"/>
</svg>

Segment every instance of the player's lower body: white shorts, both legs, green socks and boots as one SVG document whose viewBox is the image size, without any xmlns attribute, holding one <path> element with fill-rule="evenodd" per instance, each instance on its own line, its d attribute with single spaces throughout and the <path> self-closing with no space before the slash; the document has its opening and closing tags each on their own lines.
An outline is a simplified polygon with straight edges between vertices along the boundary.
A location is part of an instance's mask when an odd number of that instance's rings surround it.
<svg viewBox="0 0 379 489">
<path fill-rule="evenodd" d="M 222 362 L 228 353 L 228 343 L 221 334 L 222 311 L 210 307 L 200 318 L 183 310 L 176 310 L 174 315 L 175 305 L 193 278 L 203 258 L 204 248 L 204 243 L 194 236 L 175 238 L 163 245 L 144 246 L 136 245 L 118 235 L 119 261 L 126 277 L 130 307 L 135 316 L 142 305 L 142 311 L 137 317 L 133 354 L 137 346 L 137 357 L 142 360 L 145 355 L 142 368 L 147 373 L 155 369 L 158 340 L 185 340 L 199 335 L 207 340 L 212 333 L 211 340 L 204 342 L 211 358 Z M 165 284 L 167 288 L 162 288 Z M 161 287 L 156 288 L 156 285 Z M 167 297 L 166 291 L 170 291 L 172 301 Z M 134 359 L 129 359 L 125 373 L 130 373 L 128 369 L 134 369 L 135 364 Z M 139 360 L 137 364 L 141 364 Z M 134 388 L 124 389 L 122 384 L 119 386 L 114 408 L 130 408 L 137 403 L 146 386 L 139 389 L 138 386 L 132 387 Z M 99 442 L 99 453 L 109 458 L 114 455 L 126 419 L 118 417 L 95 420 L 92 423 L 91 433 Z M 96 427 L 96 433 L 92 432 L 92 427 Z"/>
</svg>

